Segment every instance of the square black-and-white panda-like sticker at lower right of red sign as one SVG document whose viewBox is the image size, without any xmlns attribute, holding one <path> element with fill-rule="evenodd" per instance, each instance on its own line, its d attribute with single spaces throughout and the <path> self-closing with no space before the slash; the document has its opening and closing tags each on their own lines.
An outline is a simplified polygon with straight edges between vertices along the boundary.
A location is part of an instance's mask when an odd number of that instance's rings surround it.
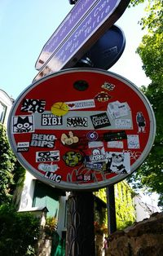
<svg viewBox="0 0 163 256">
<path fill-rule="evenodd" d="M 116 174 L 130 173 L 130 153 L 108 152 L 107 171 Z"/>
</svg>

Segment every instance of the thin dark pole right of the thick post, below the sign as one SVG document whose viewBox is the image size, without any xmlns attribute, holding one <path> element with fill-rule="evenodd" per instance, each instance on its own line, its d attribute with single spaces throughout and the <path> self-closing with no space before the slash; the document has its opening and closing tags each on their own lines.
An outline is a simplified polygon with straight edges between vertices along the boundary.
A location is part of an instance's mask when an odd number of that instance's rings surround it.
<svg viewBox="0 0 163 256">
<path fill-rule="evenodd" d="M 114 185 L 107 187 L 107 208 L 108 208 L 108 234 L 111 235 L 117 230 L 116 206 L 114 196 Z"/>
</svg>

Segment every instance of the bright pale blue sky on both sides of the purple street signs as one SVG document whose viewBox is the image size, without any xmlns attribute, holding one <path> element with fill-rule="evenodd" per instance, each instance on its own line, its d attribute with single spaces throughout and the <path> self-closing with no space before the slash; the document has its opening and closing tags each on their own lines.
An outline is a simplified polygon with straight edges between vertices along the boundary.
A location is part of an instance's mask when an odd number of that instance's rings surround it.
<svg viewBox="0 0 163 256">
<path fill-rule="evenodd" d="M 14 99 L 37 75 L 34 65 L 46 41 L 73 6 L 68 0 L 0 1 L 0 89 Z M 136 86 L 148 85 L 139 55 L 135 54 L 143 31 L 138 20 L 144 6 L 127 9 L 117 25 L 126 36 L 126 49 L 110 71 Z"/>
</svg>

